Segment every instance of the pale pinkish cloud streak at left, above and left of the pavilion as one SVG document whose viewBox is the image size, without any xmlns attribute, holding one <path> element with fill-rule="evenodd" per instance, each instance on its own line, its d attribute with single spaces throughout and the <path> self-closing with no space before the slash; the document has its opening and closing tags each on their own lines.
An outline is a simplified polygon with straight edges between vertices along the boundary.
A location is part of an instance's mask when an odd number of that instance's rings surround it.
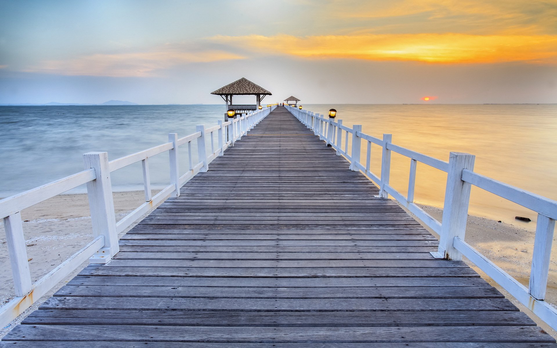
<svg viewBox="0 0 557 348">
<path fill-rule="evenodd" d="M 27 68 L 24 71 L 55 73 L 59 75 L 150 77 L 157 76 L 161 70 L 178 65 L 243 58 L 243 56 L 236 53 L 221 50 L 99 53 L 67 60 L 42 61 L 38 65 Z"/>
</svg>

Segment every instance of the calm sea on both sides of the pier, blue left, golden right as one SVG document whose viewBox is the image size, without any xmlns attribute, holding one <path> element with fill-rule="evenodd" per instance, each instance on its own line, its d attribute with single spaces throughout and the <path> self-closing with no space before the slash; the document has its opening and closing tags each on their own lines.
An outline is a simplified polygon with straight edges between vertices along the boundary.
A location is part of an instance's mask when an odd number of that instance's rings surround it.
<svg viewBox="0 0 557 348">
<path fill-rule="evenodd" d="M 335 107 L 345 125 L 393 134 L 393 143 L 438 159 L 449 151 L 476 155 L 475 170 L 557 199 L 557 105 L 305 105 L 325 114 Z M 108 151 L 116 159 L 185 136 L 223 118 L 223 105 L 0 106 L 0 197 L 82 170 L 81 154 Z M 363 141 L 365 143 L 365 141 Z M 365 144 L 362 161 L 365 162 Z M 185 152 L 185 151 L 184 151 Z M 195 152 L 195 151 L 194 151 Z M 154 187 L 169 182 L 168 155 L 150 159 Z M 182 158 L 181 168 L 187 166 Z M 372 171 L 380 150 L 372 146 Z M 409 160 L 393 154 L 391 183 L 405 193 Z M 182 171 L 183 173 L 183 171 Z M 115 190 L 143 189 L 140 164 L 113 173 Z M 224 178 L 223 180 L 226 180 Z M 446 174 L 418 164 L 416 201 L 442 206 Z M 74 192 L 84 192 L 84 188 Z M 471 214 L 514 222 L 535 214 L 476 189 Z"/>
</svg>

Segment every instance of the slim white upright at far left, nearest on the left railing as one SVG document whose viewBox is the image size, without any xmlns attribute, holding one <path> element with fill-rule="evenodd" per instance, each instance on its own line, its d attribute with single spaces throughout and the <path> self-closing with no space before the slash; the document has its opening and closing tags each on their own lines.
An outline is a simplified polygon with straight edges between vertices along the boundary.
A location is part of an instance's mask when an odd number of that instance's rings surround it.
<svg viewBox="0 0 557 348">
<path fill-rule="evenodd" d="M 31 291 L 32 283 L 21 213 L 13 213 L 5 217 L 4 229 L 6 230 L 6 243 L 8 244 L 9 262 L 12 265 L 13 286 L 16 289 L 16 296 L 25 296 Z"/>
</svg>

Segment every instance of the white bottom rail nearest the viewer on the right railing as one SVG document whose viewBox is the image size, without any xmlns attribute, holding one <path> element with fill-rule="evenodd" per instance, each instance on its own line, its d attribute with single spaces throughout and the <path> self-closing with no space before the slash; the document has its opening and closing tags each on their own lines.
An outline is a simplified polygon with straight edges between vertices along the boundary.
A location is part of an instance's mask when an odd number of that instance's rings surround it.
<svg viewBox="0 0 557 348">
<path fill-rule="evenodd" d="M 455 237 L 453 245 L 466 258 L 485 272 L 487 276 L 491 277 L 492 280 L 508 291 L 516 300 L 519 300 L 522 305 L 526 306 L 535 315 L 540 317 L 541 320 L 557 330 L 557 310 L 554 307 L 545 301 L 536 300 L 530 296 L 524 285 L 509 276 L 499 266 L 480 254 L 461 238 Z"/>
</svg>

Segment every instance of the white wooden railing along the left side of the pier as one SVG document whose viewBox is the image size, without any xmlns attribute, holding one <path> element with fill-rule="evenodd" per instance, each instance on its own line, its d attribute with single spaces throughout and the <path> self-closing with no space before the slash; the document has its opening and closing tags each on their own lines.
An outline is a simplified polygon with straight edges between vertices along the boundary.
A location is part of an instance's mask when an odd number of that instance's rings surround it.
<svg viewBox="0 0 557 348">
<path fill-rule="evenodd" d="M 85 170 L 80 171 L 80 173 L 0 200 L 0 217 L 4 220 L 15 288 L 13 300 L 0 308 L 0 327 L 9 324 L 10 321 L 29 308 L 87 259 L 90 263 L 110 261 L 119 251 L 118 234 L 120 232 L 123 232 L 141 215 L 165 200 L 169 195 L 178 197 L 180 187 L 200 171 L 207 171 L 208 165 L 213 159 L 222 156 L 228 146 L 233 146 L 236 141 L 240 140 L 243 135 L 275 108 L 276 106 L 266 107 L 262 110 L 242 114 L 226 122 L 219 120 L 218 125 L 209 128 L 199 125 L 196 133 L 183 138 L 178 138 L 176 133 L 170 133 L 168 143 L 112 161 L 108 160 L 108 153 L 106 152 L 86 153 L 83 155 Z M 196 141 L 198 150 L 198 163 L 196 164 L 193 163 L 192 156 L 193 141 Z M 211 144 L 211 149 L 206 148 L 207 143 Z M 178 159 L 180 157 L 179 153 L 182 151 L 180 149 L 182 145 L 187 145 L 188 170 L 180 176 Z M 170 157 L 171 183 L 152 196 L 149 158 L 166 151 L 168 151 Z M 116 223 L 110 173 L 138 162 L 143 165 L 145 203 Z M 21 211 L 83 184 L 87 184 L 93 231 L 92 241 L 40 280 L 32 283 L 27 261 L 26 243 L 23 237 Z"/>
</svg>

